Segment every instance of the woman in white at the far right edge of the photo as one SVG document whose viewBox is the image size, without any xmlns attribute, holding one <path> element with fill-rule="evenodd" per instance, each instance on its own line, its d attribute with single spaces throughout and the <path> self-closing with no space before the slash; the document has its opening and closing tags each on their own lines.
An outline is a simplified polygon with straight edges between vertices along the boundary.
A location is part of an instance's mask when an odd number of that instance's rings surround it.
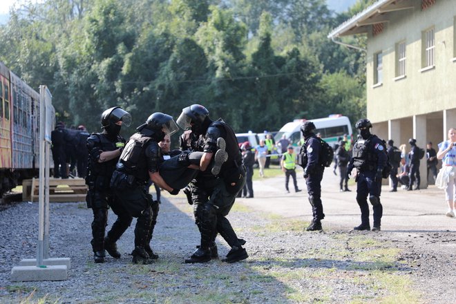
<svg viewBox="0 0 456 304">
<path fill-rule="evenodd" d="M 442 168 L 437 176 L 436 184 L 445 189 L 445 199 L 448 203 L 446 216 L 455 217 L 456 213 L 456 129 L 448 130 L 448 140 L 439 144 L 437 159 L 442 160 Z"/>
</svg>

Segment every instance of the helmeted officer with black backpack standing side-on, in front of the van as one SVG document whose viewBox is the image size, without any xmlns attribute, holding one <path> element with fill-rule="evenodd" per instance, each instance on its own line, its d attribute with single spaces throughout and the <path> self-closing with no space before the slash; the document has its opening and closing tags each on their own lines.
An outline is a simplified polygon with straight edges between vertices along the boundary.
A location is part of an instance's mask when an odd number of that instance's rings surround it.
<svg viewBox="0 0 456 304">
<path fill-rule="evenodd" d="M 305 149 L 307 164 L 304 167 L 304 178 L 307 184 L 307 193 L 309 202 L 312 206 L 312 222 L 306 228 L 307 231 L 319 231 L 321 220 L 325 218 L 323 213 L 323 204 L 321 202 L 321 179 L 325 167 L 320 163 L 321 141 L 314 134 L 315 124 L 305 122 L 301 126 L 301 132 L 304 136 L 304 144 L 301 149 Z"/>
</svg>

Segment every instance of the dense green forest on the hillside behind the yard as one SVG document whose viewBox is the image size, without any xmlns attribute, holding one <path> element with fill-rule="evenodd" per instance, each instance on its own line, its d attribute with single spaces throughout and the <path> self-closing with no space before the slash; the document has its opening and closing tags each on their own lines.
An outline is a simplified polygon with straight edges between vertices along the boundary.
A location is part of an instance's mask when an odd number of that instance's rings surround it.
<svg viewBox="0 0 456 304">
<path fill-rule="evenodd" d="M 365 115 L 365 54 L 327 34 L 372 2 L 336 14 L 325 0 L 45 0 L 0 26 L 0 61 L 50 88 L 57 120 L 89 131 L 111 106 L 139 126 L 193 103 L 236 132 L 332 113 L 353 123 Z"/>
</svg>

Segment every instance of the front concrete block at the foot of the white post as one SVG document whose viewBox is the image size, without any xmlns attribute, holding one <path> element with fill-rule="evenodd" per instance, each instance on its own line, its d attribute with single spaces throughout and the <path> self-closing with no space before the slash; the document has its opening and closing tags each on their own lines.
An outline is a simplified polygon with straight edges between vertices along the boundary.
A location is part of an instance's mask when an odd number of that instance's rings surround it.
<svg viewBox="0 0 456 304">
<path fill-rule="evenodd" d="M 55 266 L 15 266 L 11 269 L 12 282 L 64 281 L 68 278 L 65 265 Z"/>
</svg>

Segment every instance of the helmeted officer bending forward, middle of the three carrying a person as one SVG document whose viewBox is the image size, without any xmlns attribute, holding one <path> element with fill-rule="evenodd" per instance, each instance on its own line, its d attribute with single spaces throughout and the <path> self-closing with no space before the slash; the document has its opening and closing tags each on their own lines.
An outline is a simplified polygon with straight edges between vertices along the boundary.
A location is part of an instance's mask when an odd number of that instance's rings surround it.
<svg viewBox="0 0 456 304">
<path fill-rule="evenodd" d="M 135 249 L 133 263 L 149 264 L 158 256 L 153 253 L 150 241 L 158 216 L 158 201 L 144 187 L 149 179 L 158 187 L 176 195 L 179 189 L 173 189 L 159 173 L 162 162 L 162 150 L 158 146 L 165 135 L 178 131 L 173 117 L 164 113 L 153 113 L 146 123 L 137 127 L 125 145 L 117 167 L 111 179 L 111 187 L 124 202 L 126 212 L 137 218 L 135 226 Z"/>
</svg>

